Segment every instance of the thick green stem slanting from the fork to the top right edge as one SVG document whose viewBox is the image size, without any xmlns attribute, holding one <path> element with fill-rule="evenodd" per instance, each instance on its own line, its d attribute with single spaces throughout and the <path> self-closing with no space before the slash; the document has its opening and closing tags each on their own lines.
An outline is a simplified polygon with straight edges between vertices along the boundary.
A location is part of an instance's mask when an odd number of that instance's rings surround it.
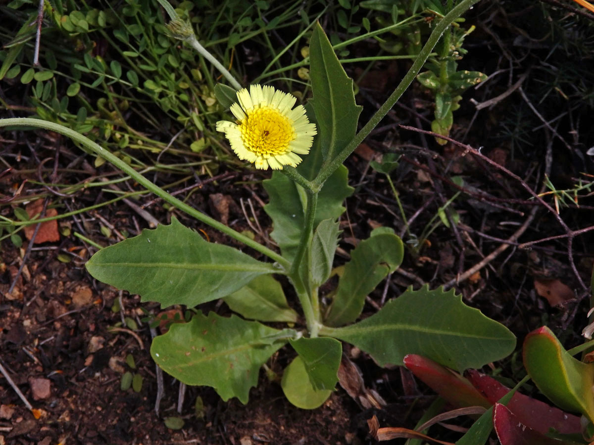
<svg viewBox="0 0 594 445">
<path fill-rule="evenodd" d="M 419 52 L 418 58 L 412 64 L 402 81 L 400 81 L 400 84 L 396 87 L 394 93 L 392 93 L 390 97 L 387 98 L 386 102 L 384 102 L 380 109 L 375 112 L 371 119 L 369 119 L 369 122 L 367 122 L 361 131 L 355 135 L 355 138 L 353 138 L 350 144 L 343 148 L 343 150 L 340 151 L 340 153 L 333 160 L 331 160 L 331 162 L 328 163 L 328 165 L 324 167 L 320 173 L 318 173 L 318 176 L 313 180 L 314 187 L 320 187 L 323 185 L 328 177 L 330 177 L 330 175 L 342 165 L 345 159 L 349 157 L 355 148 L 359 147 L 359 144 L 361 144 L 363 139 L 365 139 L 369 132 L 371 132 L 371 130 L 374 129 L 378 123 L 380 123 L 380 120 L 382 120 L 384 116 L 386 116 L 391 110 L 394 104 L 396 104 L 400 96 L 402 96 L 402 94 L 405 92 L 406 88 L 408 88 L 412 81 L 415 80 L 416 75 L 419 74 L 419 71 L 421 71 L 421 68 L 429 57 L 429 54 L 431 54 L 431 51 L 440 39 L 441 34 L 447 30 L 447 28 L 451 23 L 453 23 L 454 20 L 456 20 L 456 18 L 460 17 L 460 15 L 462 15 L 467 9 L 472 7 L 472 5 L 478 1 L 479 0 L 462 0 L 456 5 L 455 8 L 448 12 L 444 18 L 439 21 L 431 33 L 431 36 L 429 36 L 427 43 L 425 43 L 425 46 L 421 52 Z"/>
</svg>

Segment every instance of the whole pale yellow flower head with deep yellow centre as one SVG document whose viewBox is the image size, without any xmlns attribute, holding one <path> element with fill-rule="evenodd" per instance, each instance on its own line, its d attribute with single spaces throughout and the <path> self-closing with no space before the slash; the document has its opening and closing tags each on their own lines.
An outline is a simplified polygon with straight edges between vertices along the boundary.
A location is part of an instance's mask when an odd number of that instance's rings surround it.
<svg viewBox="0 0 594 445">
<path fill-rule="evenodd" d="M 239 159 L 257 169 L 296 167 L 299 154 L 308 154 L 317 134 L 305 108 L 295 107 L 296 98 L 273 87 L 250 85 L 237 92 L 239 103 L 231 106 L 235 122 L 219 120 L 217 131 L 225 133 Z"/>
</svg>

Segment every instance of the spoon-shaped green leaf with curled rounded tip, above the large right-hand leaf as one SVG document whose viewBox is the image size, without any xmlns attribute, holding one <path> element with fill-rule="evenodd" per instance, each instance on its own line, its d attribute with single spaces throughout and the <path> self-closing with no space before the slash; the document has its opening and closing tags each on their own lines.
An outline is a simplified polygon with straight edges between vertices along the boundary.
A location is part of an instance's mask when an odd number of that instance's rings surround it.
<svg viewBox="0 0 594 445">
<path fill-rule="evenodd" d="M 396 270 L 404 256 L 402 240 L 384 227 L 372 231 L 350 254 L 325 323 L 342 326 L 361 314 L 365 297 L 381 280 Z"/>
</svg>

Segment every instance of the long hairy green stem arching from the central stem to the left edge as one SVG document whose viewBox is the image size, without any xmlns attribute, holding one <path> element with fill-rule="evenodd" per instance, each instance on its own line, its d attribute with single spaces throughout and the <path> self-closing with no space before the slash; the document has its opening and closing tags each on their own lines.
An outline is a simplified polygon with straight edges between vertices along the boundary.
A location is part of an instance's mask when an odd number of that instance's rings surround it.
<svg viewBox="0 0 594 445">
<path fill-rule="evenodd" d="M 240 241 L 241 243 L 244 243 L 246 246 L 251 247 L 254 250 L 257 250 L 258 252 L 262 253 L 263 255 L 266 255 L 271 260 L 279 263 L 279 265 L 282 266 L 285 269 L 285 271 L 287 271 L 290 268 L 289 261 L 287 261 L 285 258 L 280 256 L 278 253 L 274 252 L 273 250 L 268 249 L 268 247 L 263 246 L 262 244 L 258 243 L 257 241 L 249 239 L 247 236 L 239 233 L 238 231 L 233 230 L 230 227 L 227 227 L 225 224 L 222 224 L 221 222 L 214 220 L 213 218 L 192 208 L 191 206 L 185 204 L 185 202 L 179 201 L 179 199 L 174 198 L 172 195 L 170 195 L 168 192 L 163 190 L 161 187 L 157 186 L 156 184 L 153 184 L 148 179 L 146 179 L 146 177 L 142 176 L 136 170 L 132 169 L 132 167 L 128 166 L 128 164 L 126 164 L 124 161 L 122 161 L 115 155 L 111 154 L 109 151 L 105 150 L 105 148 L 100 147 L 100 145 L 97 145 L 95 142 L 91 141 L 91 139 L 89 139 L 86 136 L 83 136 L 81 134 L 78 134 L 77 132 L 75 132 L 72 129 L 66 128 L 65 126 L 62 126 L 62 125 L 58 125 L 57 123 L 47 122 L 45 120 L 40 120 L 40 119 L 30 119 L 29 117 L 16 117 L 13 119 L 0 119 L 0 128 L 5 127 L 5 126 L 18 126 L 18 127 L 28 127 L 28 126 L 31 127 L 32 126 L 32 127 L 36 127 L 36 128 L 43 128 L 43 129 L 46 129 L 49 131 L 55 131 L 56 133 L 68 136 L 75 142 L 78 142 L 79 144 L 84 145 L 84 147 L 89 148 L 89 150 L 93 151 L 100 157 L 104 158 L 106 161 L 109 161 L 111 164 L 113 164 L 113 166 L 124 171 L 132 179 L 134 179 L 136 182 L 138 182 L 141 186 L 143 186 L 150 192 L 153 192 L 155 195 L 159 196 L 160 198 L 163 198 L 163 201 L 168 202 L 169 204 L 175 206 L 175 208 L 178 208 L 182 212 L 185 212 L 188 215 L 190 215 L 191 217 L 196 218 L 198 221 L 204 222 L 204 224 L 208 224 L 208 225 L 210 225 L 210 227 L 220 230 L 223 233 L 225 233 L 226 235 L 232 237 L 233 239 L 236 239 L 236 240 Z M 39 221 L 37 221 L 37 222 L 39 222 Z M 279 273 L 282 273 L 282 272 L 279 271 Z"/>
</svg>

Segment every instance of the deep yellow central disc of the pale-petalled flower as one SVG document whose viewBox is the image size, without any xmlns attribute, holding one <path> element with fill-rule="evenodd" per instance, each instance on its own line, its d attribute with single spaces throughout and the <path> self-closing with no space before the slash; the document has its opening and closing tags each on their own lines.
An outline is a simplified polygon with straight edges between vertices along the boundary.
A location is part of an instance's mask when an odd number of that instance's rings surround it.
<svg viewBox="0 0 594 445">
<path fill-rule="evenodd" d="M 295 139 L 292 122 L 273 107 L 251 110 L 239 123 L 245 148 L 258 156 L 274 156 L 290 151 L 289 142 Z"/>
</svg>

